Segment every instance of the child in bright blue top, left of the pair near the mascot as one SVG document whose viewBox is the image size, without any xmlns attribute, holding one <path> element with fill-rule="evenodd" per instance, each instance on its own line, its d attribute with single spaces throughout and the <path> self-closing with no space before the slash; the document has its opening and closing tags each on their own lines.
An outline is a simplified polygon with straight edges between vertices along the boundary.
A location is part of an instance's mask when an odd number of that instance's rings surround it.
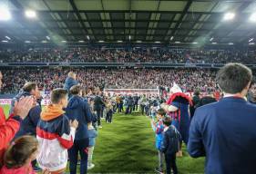
<svg viewBox="0 0 256 174">
<path fill-rule="evenodd" d="M 153 131 L 156 133 L 156 148 L 159 151 L 159 167 L 156 168 L 158 172 L 163 172 L 163 158 L 164 154 L 160 151 L 162 139 L 163 139 L 163 131 L 164 131 L 164 125 L 162 119 L 165 117 L 166 112 L 163 109 L 159 109 L 157 111 L 157 122 L 155 122 L 153 119 L 151 120 L 151 125 L 153 128 Z"/>
</svg>

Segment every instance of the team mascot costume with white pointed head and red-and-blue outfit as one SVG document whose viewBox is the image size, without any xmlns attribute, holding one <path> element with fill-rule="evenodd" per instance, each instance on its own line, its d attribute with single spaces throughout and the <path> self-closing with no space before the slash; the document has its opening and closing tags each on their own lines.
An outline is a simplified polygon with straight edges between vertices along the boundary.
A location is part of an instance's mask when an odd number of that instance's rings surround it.
<svg viewBox="0 0 256 174">
<path fill-rule="evenodd" d="M 174 83 L 169 90 L 170 96 L 166 103 L 162 103 L 161 107 L 169 113 L 172 118 L 172 125 L 179 130 L 182 140 L 187 145 L 189 140 L 189 105 L 192 106 L 192 101 L 189 96 L 181 91 L 179 86 Z M 179 156 L 182 156 L 181 150 Z"/>
</svg>

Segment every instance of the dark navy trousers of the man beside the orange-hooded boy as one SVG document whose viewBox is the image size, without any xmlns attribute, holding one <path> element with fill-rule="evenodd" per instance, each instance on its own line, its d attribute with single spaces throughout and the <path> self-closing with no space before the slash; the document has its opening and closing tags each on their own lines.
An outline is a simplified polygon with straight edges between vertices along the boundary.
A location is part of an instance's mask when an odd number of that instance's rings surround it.
<svg viewBox="0 0 256 174">
<path fill-rule="evenodd" d="M 68 150 L 70 174 L 77 174 L 78 152 L 81 157 L 80 174 L 87 173 L 88 145 L 89 139 L 75 140 L 72 148 Z"/>
</svg>

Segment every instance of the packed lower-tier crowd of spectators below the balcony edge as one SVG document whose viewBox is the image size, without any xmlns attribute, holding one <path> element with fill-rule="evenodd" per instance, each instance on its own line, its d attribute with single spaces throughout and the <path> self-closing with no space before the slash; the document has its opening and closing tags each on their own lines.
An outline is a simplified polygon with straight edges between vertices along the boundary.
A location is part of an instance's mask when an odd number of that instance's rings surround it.
<svg viewBox="0 0 256 174">
<path fill-rule="evenodd" d="M 25 82 L 36 82 L 43 90 L 63 87 L 69 71 L 77 73 L 77 81 L 87 88 L 156 89 L 170 87 L 177 82 L 185 92 L 199 89 L 211 92 L 216 89 L 213 70 L 189 69 L 83 69 L 83 68 L 30 68 L 4 69 L 2 92 L 17 92 Z"/>
</svg>

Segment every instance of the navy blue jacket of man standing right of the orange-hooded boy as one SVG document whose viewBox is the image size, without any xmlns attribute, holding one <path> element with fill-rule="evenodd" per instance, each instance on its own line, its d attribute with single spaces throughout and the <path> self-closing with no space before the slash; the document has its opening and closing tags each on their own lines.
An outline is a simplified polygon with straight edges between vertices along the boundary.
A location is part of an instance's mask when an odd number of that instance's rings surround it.
<svg viewBox="0 0 256 174">
<path fill-rule="evenodd" d="M 72 96 L 67 104 L 66 115 L 69 120 L 77 119 L 78 128 L 75 140 L 83 140 L 88 138 L 87 123 L 91 122 L 91 111 L 87 102 L 77 95 Z"/>
</svg>

